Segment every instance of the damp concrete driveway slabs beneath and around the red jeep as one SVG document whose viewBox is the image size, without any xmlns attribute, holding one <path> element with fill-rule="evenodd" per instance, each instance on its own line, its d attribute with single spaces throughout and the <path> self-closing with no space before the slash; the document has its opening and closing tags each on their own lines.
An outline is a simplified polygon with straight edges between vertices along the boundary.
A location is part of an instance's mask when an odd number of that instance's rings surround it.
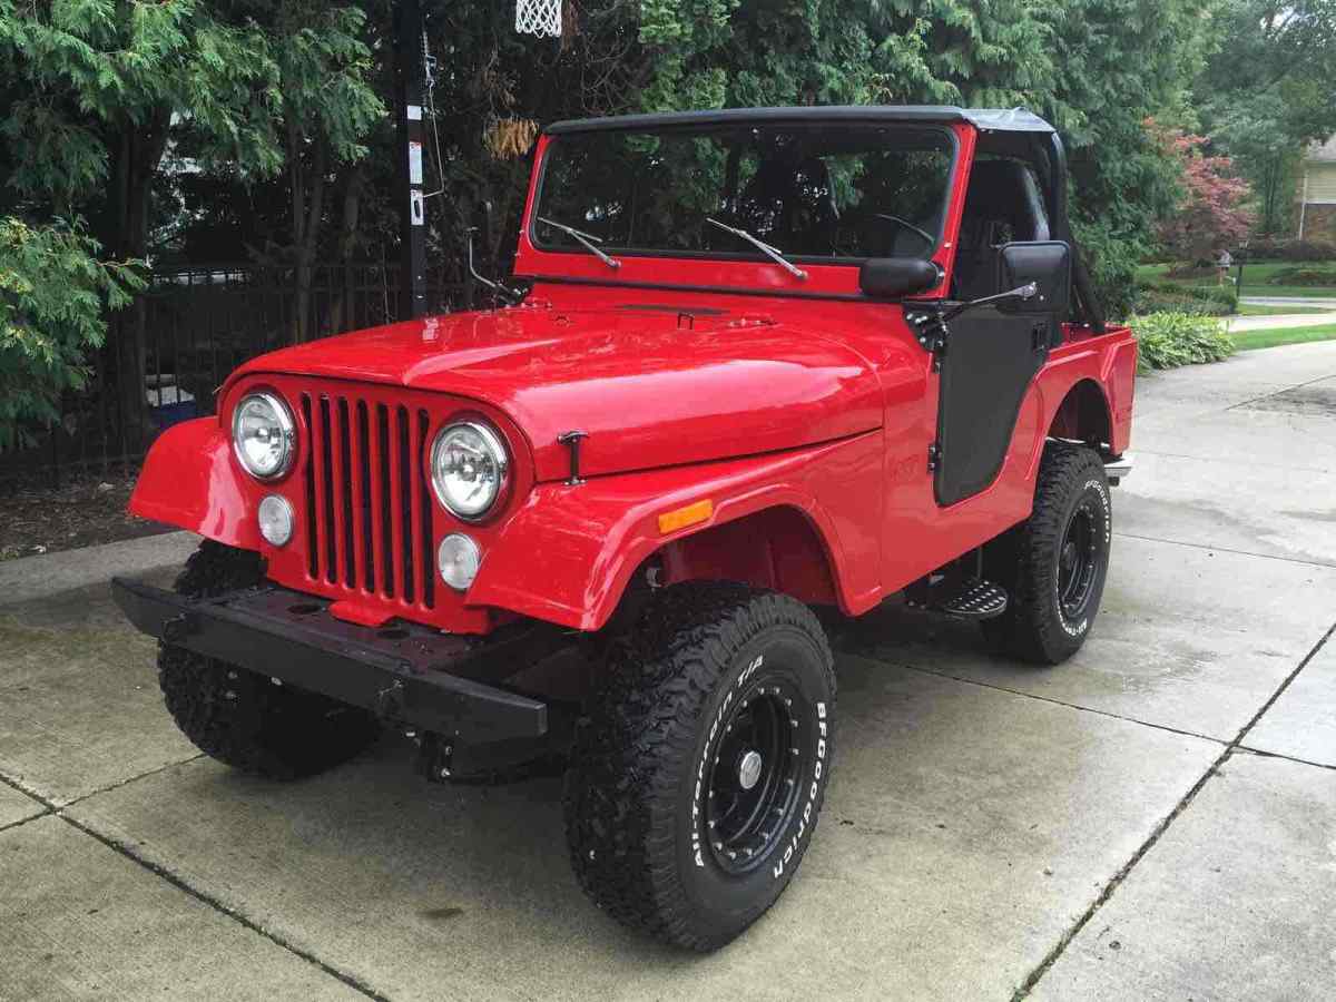
<svg viewBox="0 0 1336 1002">
<path fill-rule="evenodd" d="M 1134 446 L 1070 664 L 838 637 L 818 838 L 705 958 L 584 900 L 557 780 L 200 758 L 106 588 L 188 537 L 0 565 L 0 998 L 1331 998 L 1336 342 L 1142 379 Z"/>
</svg>

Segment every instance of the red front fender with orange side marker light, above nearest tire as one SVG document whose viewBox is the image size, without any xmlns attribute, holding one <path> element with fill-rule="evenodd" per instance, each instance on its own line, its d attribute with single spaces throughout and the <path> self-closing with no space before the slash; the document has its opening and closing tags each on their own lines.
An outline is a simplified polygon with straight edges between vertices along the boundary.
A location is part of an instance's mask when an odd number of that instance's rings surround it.
<svg viewBox="0 0 1336 1002">
<path fill-rule="evenodd" d="M 766 508 L 800 510 L 830 557 L 840 607 L 880 600 L 880 430 L 747 460 L 540 484 L 508 521 L 469 589 L 470 605 L 592 631 L 631 574 L 673 540 Z M 707 521 L 660 533 L 659 516 L 709 500 Z"/>
</svg>

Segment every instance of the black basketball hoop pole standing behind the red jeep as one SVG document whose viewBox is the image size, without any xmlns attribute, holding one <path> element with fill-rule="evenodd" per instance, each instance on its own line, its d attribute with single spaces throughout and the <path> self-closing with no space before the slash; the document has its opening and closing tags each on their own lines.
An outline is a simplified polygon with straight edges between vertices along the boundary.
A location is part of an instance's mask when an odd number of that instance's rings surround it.
<svg viewBox="0 0 1336 1002">
<path fill-rule="evenodd" d="M 426 206 L 422 200 L 422 8 L 394 4 L 394 91 L 398 124 L 399 319 L 426 314 Z"/>
</svg>

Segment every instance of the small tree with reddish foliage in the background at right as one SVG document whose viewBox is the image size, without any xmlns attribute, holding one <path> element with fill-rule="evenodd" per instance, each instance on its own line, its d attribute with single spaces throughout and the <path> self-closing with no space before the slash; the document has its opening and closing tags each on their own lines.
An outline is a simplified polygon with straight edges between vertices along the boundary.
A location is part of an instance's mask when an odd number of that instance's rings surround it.
<svg viewBox="0 0 1336 1002">
<path fill-rule="evenodd" d="M 1154 123 L 1148 127 L 1182 171 L 1182 200 L 1160 226 L 1165 248 L 1189 262 L 1214 259 L 1224 248 L 1237 248 L 1252 228 L 1252 211 L 1244 207 L 1252 187 L 1233 174 L 1230 158 L 1205 152 L 1205 136 L 1156 130 Z"/>
</svg>

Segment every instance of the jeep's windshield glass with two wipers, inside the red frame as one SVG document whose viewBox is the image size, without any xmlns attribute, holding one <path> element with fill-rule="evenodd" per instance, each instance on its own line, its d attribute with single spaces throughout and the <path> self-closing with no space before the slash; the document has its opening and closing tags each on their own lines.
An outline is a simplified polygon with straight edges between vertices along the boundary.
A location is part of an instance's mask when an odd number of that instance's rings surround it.
<svg viewBox="0 0 1336 1002">
<path fill-rule="evenodd" d="M 953 156 L 945 130 L 871 124 L 565 134 L 544 162 L 534 216 L 550 222 L 534 219 L 534 243 L 588 253 L 573 227 L 612 255 L 764 261 L 732 227 L 790 258 L 927 258 Z"/>
</svg>

